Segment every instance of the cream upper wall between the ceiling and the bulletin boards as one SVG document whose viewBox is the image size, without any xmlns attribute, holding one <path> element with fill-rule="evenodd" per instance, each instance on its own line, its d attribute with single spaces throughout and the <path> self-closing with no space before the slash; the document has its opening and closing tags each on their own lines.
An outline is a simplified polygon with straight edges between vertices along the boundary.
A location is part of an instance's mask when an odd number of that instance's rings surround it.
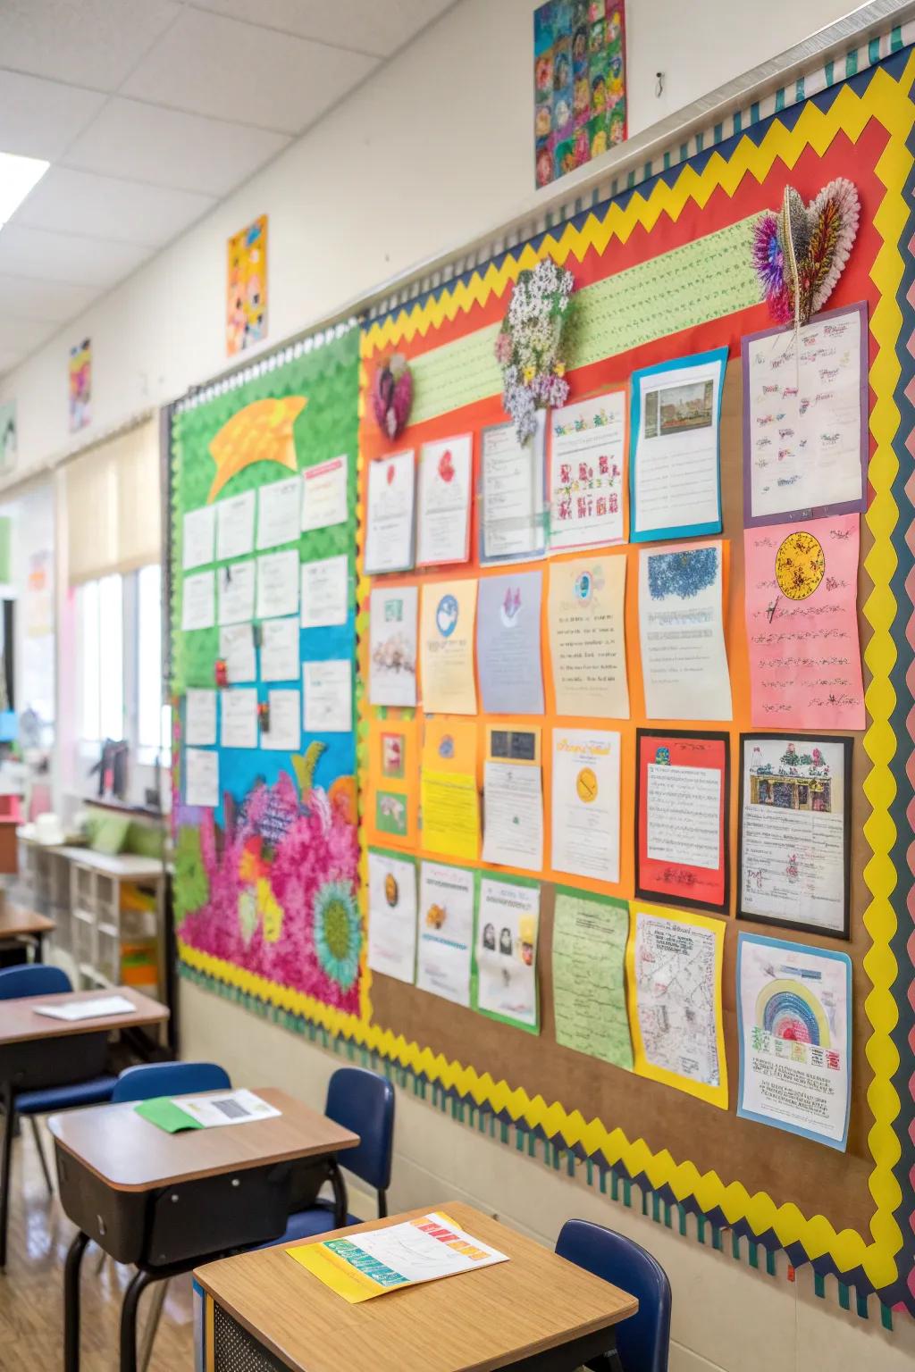
<svg viewBox="0 0 915 1372">
<path fill-rule="evenodd" d="M 535 0 L 460 0 L 156 259 L 0 381 L 16 479 L 226 365 L 225 239 L 270 215 L 270 343 L 395 273 L 534 209 Z M 848 11 L 844 0 L 630 0 L 638 133 Z M 656 73 L 664 91 L 656 97 Z M 546 192 L 547 195 L 550 192 Z M 93 344 L 93 423 L 67 432 L 73 339 Z"/>
</svg>

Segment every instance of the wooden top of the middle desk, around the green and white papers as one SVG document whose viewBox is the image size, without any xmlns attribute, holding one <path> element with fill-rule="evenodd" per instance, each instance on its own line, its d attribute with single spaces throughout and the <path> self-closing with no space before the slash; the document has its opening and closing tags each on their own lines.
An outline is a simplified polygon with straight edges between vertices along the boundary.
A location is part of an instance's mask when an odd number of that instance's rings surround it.
<svg viewBox="0 0 915 1372">
<path fill-rule="evenodd" d="M 136 1113 L 136 1102 L 125 1102 L 51 1115 L 48 1128 L 59 1148 L 78 1158 L 112 1191 L 152 1191 L 224 1172 L 318 1158 L 359 1143 L 358 1133 L 342 1129 L 284 1091 L 255 1087 L 254 1093 L 283 1114 L 255 1124 L 166 1133 Z"/>
</svg>

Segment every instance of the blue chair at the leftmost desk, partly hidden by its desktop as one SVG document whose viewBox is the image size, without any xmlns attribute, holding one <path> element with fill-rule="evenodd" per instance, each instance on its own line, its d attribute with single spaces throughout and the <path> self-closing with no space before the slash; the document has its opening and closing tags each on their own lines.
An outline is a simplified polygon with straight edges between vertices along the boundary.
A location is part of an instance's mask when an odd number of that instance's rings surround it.
<svg viewBox="0 0 915 1372">
<path fill-rule="evenodd" d="M 73 985 L 60 967 L 33 962 L 0 970 L 0 1000 L 55 996 L 66 991 L 73 991 Z M 107 1039 L 107 1033 L 95 1032 L 71 1036 L 66 1048 L 59 1039 L 25 1044 L 15 1063 L 12 1080 L 3 1083 L 5 1122 L 0 1158 L 0 1268 L 5 1266 L 7 1258 L 7 1214 L 16 1117 L 25 1115 L 32 1125 L 44 1180 L 48 1194 L 52 1194 L 51 1170 L 41 1147 L 36 1117 L 58 1110 L 73 1110 L 77 1106 L 99 1104 L 111 1098 L 115 1078 L 104 1073 Z"/>
</svg>

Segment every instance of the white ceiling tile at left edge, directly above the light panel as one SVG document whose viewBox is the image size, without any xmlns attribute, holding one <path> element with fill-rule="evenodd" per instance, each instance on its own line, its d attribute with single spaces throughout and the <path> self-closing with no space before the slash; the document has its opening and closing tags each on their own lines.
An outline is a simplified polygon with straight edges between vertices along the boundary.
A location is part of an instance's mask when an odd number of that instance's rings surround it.
<svg viewBox="0 0 915 1372">
<path fill-rule="evenodd" d="M 106 99 L 97 91 L 0 69 L 0 150 L 55 162 Z"/>
</svg>

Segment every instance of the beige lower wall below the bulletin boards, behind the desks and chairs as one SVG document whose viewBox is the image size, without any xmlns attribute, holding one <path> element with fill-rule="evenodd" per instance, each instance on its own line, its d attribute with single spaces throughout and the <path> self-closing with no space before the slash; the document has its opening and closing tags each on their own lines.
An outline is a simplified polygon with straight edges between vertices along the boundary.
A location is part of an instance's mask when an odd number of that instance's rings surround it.
<svg viewBox="0 0 915 1372">
<path fill-rule="evenodd" d="M 237 1004 L 181 981 L 181 1055 L 221 1062 L 237 1085 L 278 1085 L 316 1109 L 324 1107 L 328 1077 L 342 1059 L 259 1019 Z M 774 1136 L 776 1139 L 776 1136 Z M 615 1205 L 516 1152 L 514 1147 L 455 1124 L 412 1092 L 398 1091 L 391 1210 L 468 1200 L 546 1244 L 553 1244 L 572 1216 L 608 1224 L 649 1249 L 667 1270 L 674 1290 L 671 1372 L 911 1372 L 915 1323 L 896 1316 L 896 1329 L 859 1320 L 838 1308 L 835 1284 L 827 1299 L 813 1294 L 809 1270 L 786 1279 L 779 1254 L 778 1276 L 754 1272 L 728 1253 L 715 1253 L 690 1236 L 680 1238 L 634 1209 Z M 372 1214 L 366 1196 L 351 1194 L 357 1214 Z M 745 1246 L 744 1246 L 745 1247 Z"/>
</svg>

